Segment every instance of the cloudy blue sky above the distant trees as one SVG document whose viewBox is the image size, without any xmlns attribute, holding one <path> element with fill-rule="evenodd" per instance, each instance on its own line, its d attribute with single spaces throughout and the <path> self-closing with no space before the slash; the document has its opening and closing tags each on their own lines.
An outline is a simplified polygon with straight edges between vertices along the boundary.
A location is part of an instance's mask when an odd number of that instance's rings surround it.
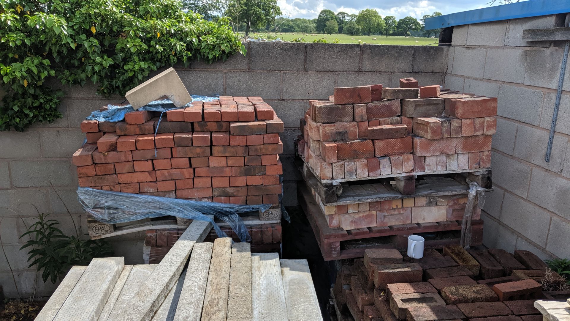
<svg viewBox="0 0 570 321">
<path fill-rule="evenodd" d="M 396 19 L 408 15 L 418 20 L 425 14 L 439 11 L 442 14 L 450 14 L 461 11 L 479 9 L 489 6 L 490 0 L 411 0 L 411 1 L 365 1 L 365 0 L 277 0 L 278 6 L 284 17 L 313 19 L 323 9 L 329 9 L 335 13 L 344 11 L 348 14 L 357 14 L 363 9 L 376 9 L 382 17 L 393 15 Z M 499 0 L 495 5 L 499 5 Z"/>
</svg>

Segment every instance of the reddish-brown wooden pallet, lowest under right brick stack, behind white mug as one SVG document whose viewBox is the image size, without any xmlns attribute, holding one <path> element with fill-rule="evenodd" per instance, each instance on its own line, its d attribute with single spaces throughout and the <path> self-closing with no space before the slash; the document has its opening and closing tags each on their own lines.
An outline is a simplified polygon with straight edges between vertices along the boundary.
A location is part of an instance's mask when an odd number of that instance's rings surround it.
<svg viewBox="0 0 570 321">
<path fill-rule="evenodd" d="M 299 204 L 315 232 L 324 260 L 339 260 L 364 256 L 367 248 L 405 248 L 411 234 L 426 238 L 426 248 L 442 248 L 446 245 L 459 244 L 461 221 L 436 223 L 402 224 L 388 227 L 357 228 L 345 231 L 342 228 L 328 227 L 324 213 L 312 198 L 304 184 L 297 187 Z M 471 245 L 481 245 L 483 241 L 483 220 L 472 222 Z M 374 238 L 374 239 L 372 239 Z M 366 245 L 366 243 L 369 243 Z"/>
</svg>

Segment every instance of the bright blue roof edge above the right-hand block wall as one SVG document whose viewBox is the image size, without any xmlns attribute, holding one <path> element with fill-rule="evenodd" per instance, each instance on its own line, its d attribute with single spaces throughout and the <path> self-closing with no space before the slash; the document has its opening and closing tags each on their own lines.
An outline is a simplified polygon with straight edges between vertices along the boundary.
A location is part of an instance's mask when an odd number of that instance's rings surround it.
<svg viewBox="0 0 570 321">
<path fill-rule="evenodd" d="M 427 18 L 425 29 L 570 12 L 570 0 L 530 0 Z"/>
</svg>

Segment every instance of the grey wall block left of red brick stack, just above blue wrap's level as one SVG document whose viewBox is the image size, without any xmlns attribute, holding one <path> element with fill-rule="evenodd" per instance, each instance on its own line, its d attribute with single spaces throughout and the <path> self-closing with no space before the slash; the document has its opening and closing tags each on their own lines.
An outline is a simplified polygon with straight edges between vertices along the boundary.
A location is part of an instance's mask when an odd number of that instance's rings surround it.
<svg viewBox="0 0 570 321">
<path fill-rule="evenodd" d="M 77 184 L 75 166 L 64 160 L 12 160 L 15 187 L 72 186 Z"/>
</svg>

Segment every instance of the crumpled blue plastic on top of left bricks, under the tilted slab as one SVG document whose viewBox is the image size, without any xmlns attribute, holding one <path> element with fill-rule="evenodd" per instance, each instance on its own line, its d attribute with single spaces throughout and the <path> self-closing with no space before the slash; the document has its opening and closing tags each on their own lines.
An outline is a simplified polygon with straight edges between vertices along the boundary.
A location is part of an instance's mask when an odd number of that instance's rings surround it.
<svg viewBox="0 0 570 321">
<path fill-rule="evenodd" d="M 192 95 L 192 102 L 211 102 L 219 99 L 219 97 L 210 97 L 210 96 L 200 96 L 200 95 Z M 177 109 L 177 108 L 186 108 L 192 106 L 192 102 L 187 103 L 185 106 L 176 107 L 170 101 L 170 99 L 161 99 L 158 101 L 149 102 L 146 106 L 139 108 L 139 110 L 149 110 L 149 111 L 167 111 L 170 109 Z M 131 105 L 125 106 L 116 106 L 116 105 L 107 105 L 107 110 L 103 111 L 93 111 L 91 115 L 89 115 L 86 119 L 88 121 L 100 121 L 100 122 L 120 122 L 125 119 L 125 114 L 129 113 L 129 111 L 134 111 L 135 109 Z"/>
</svg>

